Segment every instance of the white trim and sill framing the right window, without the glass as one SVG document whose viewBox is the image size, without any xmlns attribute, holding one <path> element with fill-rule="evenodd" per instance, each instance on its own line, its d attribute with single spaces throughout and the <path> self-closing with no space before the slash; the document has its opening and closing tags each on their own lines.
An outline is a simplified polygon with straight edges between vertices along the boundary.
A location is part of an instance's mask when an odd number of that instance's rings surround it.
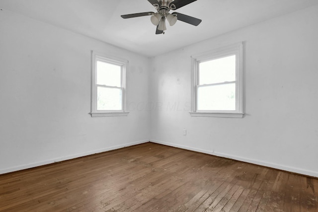
<svg viewBox="0 0 318 212">
<path fill-rule="evenodd" d="M 218 59 L 229 55 L 237 56 L 236 64 L 236 110 L 234 111 L 203 111 L 196 109 L 197 86 L 198 86 L 198 63 Z M 210 52 L 191 56 L 191 98 L 192 110 L 191 116 L 199 117 L 228 117 L 228 118 L 243 118 L 243 42 L 234 45 L 212 50 Z"/>
</svg>

